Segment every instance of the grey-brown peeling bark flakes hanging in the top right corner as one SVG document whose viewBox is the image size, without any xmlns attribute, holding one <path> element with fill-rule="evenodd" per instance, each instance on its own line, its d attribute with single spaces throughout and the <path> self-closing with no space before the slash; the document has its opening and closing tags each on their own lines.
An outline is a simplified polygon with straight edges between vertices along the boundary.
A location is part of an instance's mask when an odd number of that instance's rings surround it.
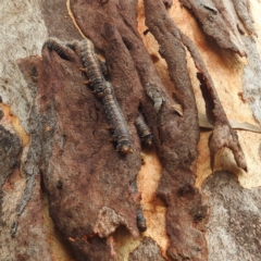
<svg viewBox="0 0 261 261">
<path fill-rule="evenodd" d="M 249 0 L 231 0 L 231 4 L 225 3 L 227 0 L 210 0 L 210 3 L 195 0 L 179 2 L 196 16 L 204 33 L 213 37 L 220 47 L 229 49 L 240 57 L 247 55 L 238 26 L 240 20 L 247 32 L 257 36 Z"/>
</svg>

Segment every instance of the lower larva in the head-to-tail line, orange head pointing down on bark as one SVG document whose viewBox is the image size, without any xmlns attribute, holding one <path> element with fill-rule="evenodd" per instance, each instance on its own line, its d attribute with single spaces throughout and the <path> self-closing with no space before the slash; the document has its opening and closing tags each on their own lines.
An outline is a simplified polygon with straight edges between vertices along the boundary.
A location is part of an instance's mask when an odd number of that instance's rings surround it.
<svg viewBox="0 0 261 261">
<path fill-rule="evenodd" d="M 122 154 L 127 154 L 132 151 L 130 134 L 114 96 L 113 87 L 109 82 L 105 82 L 102 102 L 113 129 L 113 140 L 117 142 L 116 150 Z"/>
</svg>

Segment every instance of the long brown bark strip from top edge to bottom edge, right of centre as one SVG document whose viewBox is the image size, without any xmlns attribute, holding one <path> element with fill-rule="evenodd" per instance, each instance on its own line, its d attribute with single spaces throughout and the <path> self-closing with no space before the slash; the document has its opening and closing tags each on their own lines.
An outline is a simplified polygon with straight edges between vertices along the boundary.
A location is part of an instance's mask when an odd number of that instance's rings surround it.
<svg viewBox="0 0 261 261">
<path fill-rule="evenodd" d="M 207 206 L 195 188 L 191 165 L 197 156 L 199 138 L 197 108 L 187 72 L 186 53 L 179 32 L 160 1 L 145 0 L 146 25 L 160 45 L 169 73 L 184 108 L 179 124 L 177 115 L 167 116 L 161 128 L 163 176 L 159 196 L 167 204 L 166 224 L 172 260 L 206 260 L 207 247 L 201 234 Z M 167 103 L 167 100 L 166 100 Z"/>
</svg>

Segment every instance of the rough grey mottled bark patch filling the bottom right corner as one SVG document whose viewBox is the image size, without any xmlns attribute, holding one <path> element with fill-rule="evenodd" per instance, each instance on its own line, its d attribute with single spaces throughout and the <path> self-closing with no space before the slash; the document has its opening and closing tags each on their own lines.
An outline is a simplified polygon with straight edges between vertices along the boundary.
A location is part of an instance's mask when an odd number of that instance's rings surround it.
<svg viewBox="0 0 261 261">
<path fill-rule="evenodd" d="M 261 260 L 261 227 L 257 225 L 261 223 L 261 188 L 245 189 L 235 174 L 216 172 L 204 182 L 203 191 L 211 207 L 209 260 Z"/>
</svg>

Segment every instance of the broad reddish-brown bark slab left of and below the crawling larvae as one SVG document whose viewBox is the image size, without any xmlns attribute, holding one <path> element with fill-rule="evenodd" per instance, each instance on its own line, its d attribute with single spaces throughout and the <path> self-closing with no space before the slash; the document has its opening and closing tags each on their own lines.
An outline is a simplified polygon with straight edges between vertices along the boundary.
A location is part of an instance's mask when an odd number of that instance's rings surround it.
<svg viewBox="0 0 261 261">
<path fill-rule="evenodd" d="M 63 236 L 71 238 L 79 260 L 109 260 L 107 237 L 119 225 L 125 225 L 134 236 L 139 234 L 129 196 L 130 182 L 140 166 L 139 154 L 124 158 L 114 152 L 102 105 L 83 85 L 80 60 L 67 62 L 45 49 L 42 61 L 32 58 L 21 63 L 25 75 L 33 66 L 38 72 L 36 113 L 41 133 L 35 139 L 42 148 L 40 169 L 51 216 Z M 52 146 L 44 145 L 45 133 Z"/>
</svg>

